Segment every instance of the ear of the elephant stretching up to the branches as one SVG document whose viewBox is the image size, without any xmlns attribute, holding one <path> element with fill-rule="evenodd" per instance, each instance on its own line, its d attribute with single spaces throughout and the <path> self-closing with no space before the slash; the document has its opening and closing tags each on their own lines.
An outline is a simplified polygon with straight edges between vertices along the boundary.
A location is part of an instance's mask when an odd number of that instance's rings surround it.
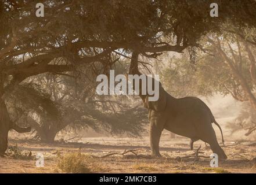
<svg viewBox="0 0 256 185">
<path fill-rule="evenodd" d="M 159 98 L 157 101 L 149 101 L 149 96 L 147 95 L 143 101 L 143 106 L 147 109 L 153 109 L 155 111 L 164 111 L 167 102 L 167 92 L 159 84 Z"/>
</svg>

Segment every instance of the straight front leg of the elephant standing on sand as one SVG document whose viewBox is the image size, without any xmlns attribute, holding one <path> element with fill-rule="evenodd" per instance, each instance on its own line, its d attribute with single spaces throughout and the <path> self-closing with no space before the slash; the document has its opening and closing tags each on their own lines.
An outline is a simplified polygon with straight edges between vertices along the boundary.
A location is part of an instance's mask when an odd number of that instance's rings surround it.
<svg viewBox="0 0 256 185">
<path fill-rule="evenodd" d="M 150 147 L 151 147 L 151 155 L 152 157 L 161 157 L 159 152 L 159 141 L 164 129 L 163 121 L 158 118 L 150 119 Z"/>
</svg>

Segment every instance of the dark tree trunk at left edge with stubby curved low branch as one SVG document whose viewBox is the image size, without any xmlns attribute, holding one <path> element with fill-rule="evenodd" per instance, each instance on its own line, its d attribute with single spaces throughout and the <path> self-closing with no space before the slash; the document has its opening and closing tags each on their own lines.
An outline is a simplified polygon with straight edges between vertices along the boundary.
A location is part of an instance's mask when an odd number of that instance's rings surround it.
<svg viewBox="0 0 256 185">
<path fill-rule="evenodd" d="M 15 129 L 19 133 L 30 132 L 31 128 L 21 128 L 10 120 L 5 102 L 0 98 L 0 155 L 5 153 L 8 145 L 8 132 Z"/>
</svg>

